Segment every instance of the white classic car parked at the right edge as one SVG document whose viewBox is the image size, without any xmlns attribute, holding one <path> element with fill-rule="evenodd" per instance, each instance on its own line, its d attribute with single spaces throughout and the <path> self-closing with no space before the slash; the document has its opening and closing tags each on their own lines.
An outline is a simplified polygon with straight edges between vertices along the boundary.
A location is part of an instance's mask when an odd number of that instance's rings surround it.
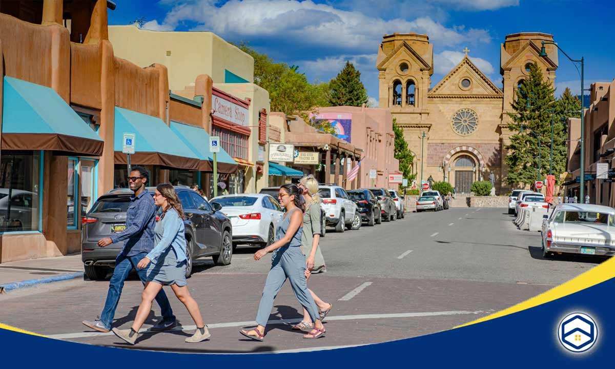
<svg viewBox="0 0 615 369">
<path fill-rule="evenodd" d="M 542 255 L 615 255 L 615 209 L 591 204 L 559 204 L 542 221 Z"/>
</svg>

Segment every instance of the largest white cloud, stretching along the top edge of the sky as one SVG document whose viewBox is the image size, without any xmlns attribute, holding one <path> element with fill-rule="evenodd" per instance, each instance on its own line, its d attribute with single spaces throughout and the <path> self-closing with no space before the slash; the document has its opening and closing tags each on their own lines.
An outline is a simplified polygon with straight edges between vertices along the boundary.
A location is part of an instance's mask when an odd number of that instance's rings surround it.
<svg viewBox="0 0 615 369">
<path fill-rule="evenodd" d="M 297 0 L 231 0 L 220 7 L 213 0 L 183 2 L 167 14 L 164 25 L 196 22 L 230 39 L 272 39 L 285 44 L 335 48 L 353 54 L 373 52 L 384 34 L 426 33 L 439 46 L 490 42 L 486 30 L 448 28 L 430 17 L 384 20 L 370 13 L 341 10 L 328 4 Z"/>
</svg>

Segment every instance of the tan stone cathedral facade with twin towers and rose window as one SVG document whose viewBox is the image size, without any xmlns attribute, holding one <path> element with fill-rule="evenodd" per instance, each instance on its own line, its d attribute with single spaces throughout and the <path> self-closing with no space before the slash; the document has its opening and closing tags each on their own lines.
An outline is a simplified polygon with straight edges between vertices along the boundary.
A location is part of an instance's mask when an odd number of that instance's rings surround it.
<svg viewBox="0 0 615 369">
<path fill-rule="evenodd" d="M 415 155 L 417 183 L 430 177 L 448 181 L 456 193 L 469 193 L 474 181 L 494 178 L 497 194 L 506 185 L 506 145 L 511 103 L 535 63 L 555 83 L 557 49 L 545 33 L 515 33 L 500 47 L 502 89 L 477 68 L 467 53 L 442 81 L 431 86 L 434 52 L 424 34 L 394 33 L 378 49 L 379 106 L 391 109 Z M 493 176 L 491 176 L 493 173 Z"/>
</svg>

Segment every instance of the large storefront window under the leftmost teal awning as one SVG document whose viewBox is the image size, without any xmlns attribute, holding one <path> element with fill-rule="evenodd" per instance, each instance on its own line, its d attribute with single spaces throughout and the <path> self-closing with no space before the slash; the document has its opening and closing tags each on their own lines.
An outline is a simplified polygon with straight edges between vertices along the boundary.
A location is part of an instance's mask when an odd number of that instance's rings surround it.
<svg viewBox="0 0 615 369">
<path fill-rule="evenodd" d="M 2 151 L 0 232 L 41 231 L 41 151 Z"/>
</svg>

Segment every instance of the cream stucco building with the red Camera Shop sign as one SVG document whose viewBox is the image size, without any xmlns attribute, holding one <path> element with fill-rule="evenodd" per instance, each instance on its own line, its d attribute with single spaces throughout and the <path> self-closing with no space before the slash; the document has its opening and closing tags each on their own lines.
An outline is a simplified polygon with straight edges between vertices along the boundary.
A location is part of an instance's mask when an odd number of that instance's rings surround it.
<svg viewBox="0 0 615 369">
<path fill-rule="evenodd" d="M 218 181 L 224 181 L 234 192 L 258 192 L 267 185 L 269 92 L 253 83 L 254 60 L 250 55 L 212 32 L 109 26 L 109 40 L 119 57 L 143 67 L 151 63 L 166 66 L 174 95 L 200 102 L 204 95 L 196 92 L 195 80 L 205 75 L 213 82 L 213 91 L 217 91 L 210 93 L 210 98 L 217 96 L 220 100 L 224 96 L 228 98 L 224 105 L 242 112 L 247 109 L 242 113 L 245 121 L 221 122 L 215 117 L 222 114 L 213 113 L 212 135 L 220 136 L 222 147 L 239 165 L 237 173 L 221 175 Z M 233 101 L 235 98 L 239 101 Z M 217 105 L 212 101 L 211 106 L 215 110 Z M 208 177 L 208 181 L 208 187 L 212 187 L 213 178 Z"/>
</svg>

